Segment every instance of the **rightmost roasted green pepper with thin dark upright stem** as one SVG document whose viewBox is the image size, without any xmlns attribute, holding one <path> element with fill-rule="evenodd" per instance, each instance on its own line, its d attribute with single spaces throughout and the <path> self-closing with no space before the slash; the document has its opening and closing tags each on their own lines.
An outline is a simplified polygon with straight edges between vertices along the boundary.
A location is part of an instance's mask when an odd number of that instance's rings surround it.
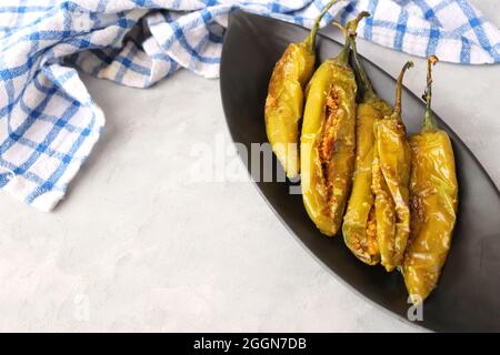
<svg viewBox="0 0 500 355">
<path fill-rule="evenodd" d="M 453 149 L 448 134 L 439 130 L 430 110 L 429 58 L 428 108 L 420 133 L 410 138 L 411 146 L 411 235 L 402 273 L 413 303 L 424 301 L 436 287 L 451 245 L 457 220 L 458 182 Z"/>
</svg>

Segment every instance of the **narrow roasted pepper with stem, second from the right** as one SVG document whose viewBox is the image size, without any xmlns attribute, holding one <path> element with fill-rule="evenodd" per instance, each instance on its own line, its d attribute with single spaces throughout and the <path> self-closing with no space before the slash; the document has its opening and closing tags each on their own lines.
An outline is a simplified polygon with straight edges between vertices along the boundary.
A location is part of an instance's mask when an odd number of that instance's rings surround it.
<svg viewBox="0 0 500 355">
<path fill-rule="evenodd" d="M 376 121 L 372 190 L 377 219 L 377 243 L 382 266 L 392 271 L 402 263 L 410 233 L 410 146 L 401 121 L 401 84 L 407 62 L 398 78 L 397 100 L 391 115 Z"/>
</svg>

